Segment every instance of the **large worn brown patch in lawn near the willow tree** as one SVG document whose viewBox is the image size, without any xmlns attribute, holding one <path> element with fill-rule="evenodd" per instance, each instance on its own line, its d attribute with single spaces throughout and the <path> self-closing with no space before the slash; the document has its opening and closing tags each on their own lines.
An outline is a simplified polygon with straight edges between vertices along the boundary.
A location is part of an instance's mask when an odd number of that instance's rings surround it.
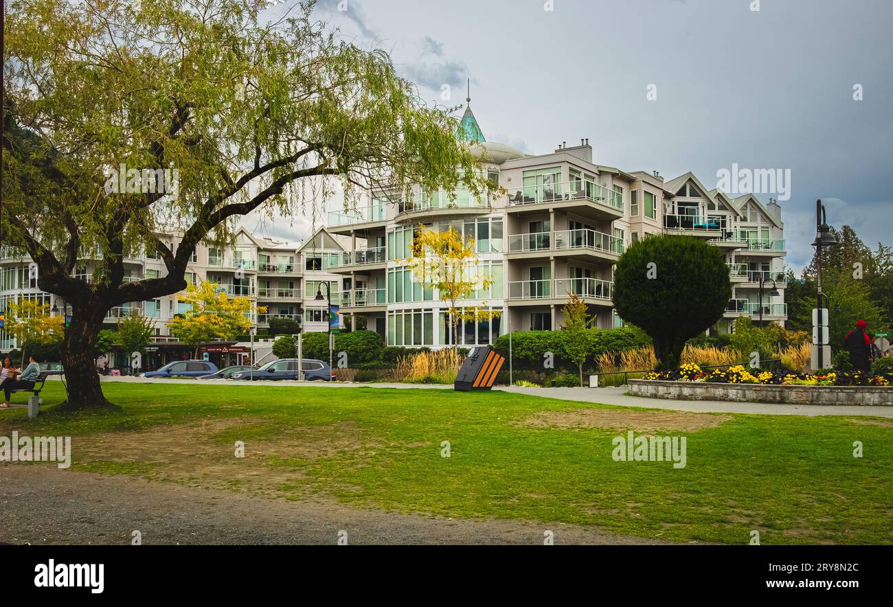
<svg viewBox="0 0 893 607">
<path fill-rule="evenodd" d="M 236 441 L 244 443 L 241 457 Z M 71 443 L 81 469 L 126 472 L 138 464 L 145 478 L 271 496 L 282 486 L 294 491 L 304 485 L 301 469 L 315 459 L 345 451 L 371 455 L 376 447 L 352 421 L 281 428 L 248 418 L 107 432 Z"/>
</svg>

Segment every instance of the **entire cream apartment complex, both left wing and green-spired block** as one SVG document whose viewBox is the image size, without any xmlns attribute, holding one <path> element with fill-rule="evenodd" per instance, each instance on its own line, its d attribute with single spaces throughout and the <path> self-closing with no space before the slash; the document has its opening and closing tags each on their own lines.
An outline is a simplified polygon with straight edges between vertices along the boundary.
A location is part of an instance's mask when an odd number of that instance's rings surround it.
<svg viewBox="0 0 893 607">
<path fill-rule="evenodd" d="M 614 264 L 631 243 L 671 233 L 704 238 L 725 256 L 733 295 L 719 331 L 730 331 L 741 315 L 787 320 L 785 241 L 774 201 L 730 198 L 690 172 L 665 181 L 657 172 L 601 165 L 587 139 L 576 146 L 563 143 L 549 154 L 523 154 L 488 142 L 470 107 L 457 137 L 480 159 L 493 184 L 488 195 L 374 191 L 358 209 L 330 212 L 327 227 L 299 245 L 241 229 L 230 247 L 199 246 L 188 281 L 210 280 L 230 295 L 250 297 L 260 328 L 280 317 L 301 320 L 305 331 L 325 331 L 327 303 L 317 295 L 330 294 L 351 326 L 378 331 L 388 345 L 487 345 L 508 331 L 560 328 L 562 307 L 572 294 L 587 303 L 598 327 L 622 325 L 612 302 Z M 463 322 L 454 338 L 447 304 L 407 267 L 420 225 L 474 238 L 479 260 L 468 275 L 477 276 L 480 287 L 463 305 L 497 311 L 495 318 Z M 177 236 L 163 239 L 176 251 Z M 76 276 L 89 280 L 99 254 L 85 253 Z M 15 297 L 51 305 L 58 299 L 29 282 L 29 261 L 9 247 L 0 250 L 0 310 Z M 165 271 L 156 255 L 128 258 L 125 266 L 128 280 Z M 486 288 L 484 278 L 491 281 Z M 171 295 L 124 304 L 106 320 L 113 327 L 130 314 L 146 314 L 157 320 L 156 340 L 176 348 L 167 320 L 186 307 Z M 0 329 L 0 350 L 14 346 Z"/>
</svg>

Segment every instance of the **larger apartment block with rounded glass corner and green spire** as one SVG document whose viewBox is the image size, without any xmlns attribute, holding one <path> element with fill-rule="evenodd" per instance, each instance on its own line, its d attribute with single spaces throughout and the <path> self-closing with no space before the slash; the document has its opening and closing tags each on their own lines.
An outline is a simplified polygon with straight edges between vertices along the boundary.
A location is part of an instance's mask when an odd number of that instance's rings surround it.
<svg viewBox="0 0 893 607">
<path fill-rule="evenodd" d="M 598 327 L 621 325 L 613 310 L 613 266 L 631 243 L 663 233 L 704 238 L 722 250 L 734 288 L 718 330 L 729 331 L 740 315 L 787 319 L 783 225 L 774 201 L 732 199 L 691 173 L 664 181 L 656 172 L 601 165 L 587 139 L 550 154 L 523 154 L 488 142 L 470 108 L 457 137 L 480 159 L 494 185 L 490 195 L 382 190 L 361 208 L 329 213 L 330 233 L 349 237 L 330 269 L 346 277 L 341 312 L 383 329 L 388 345 L 454 341 L 445 303 L 407 267 L 420 226 L 475 239 L 479 261 L 469 276 L 479 277 L 480 288 L 463 304 L 501 312 L 493 320 L 462 322 L 459 345 L 491 344 L 507 331 L 558 328 L 572 294 L 587 303 Z M 483 277 L 492 281 L 488 288 Z"/>
</svg>

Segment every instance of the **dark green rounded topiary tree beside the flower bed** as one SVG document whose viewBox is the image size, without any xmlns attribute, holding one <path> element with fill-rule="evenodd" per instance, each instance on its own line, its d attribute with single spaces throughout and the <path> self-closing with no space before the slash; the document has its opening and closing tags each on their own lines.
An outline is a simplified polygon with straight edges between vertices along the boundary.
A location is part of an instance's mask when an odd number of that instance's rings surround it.
<svg viewBox="0 0 893 607">
<path fill-rule="evenodd" d="M 722 252 L 694 237 L 640 240 L 614 270 L 614 308 L 651 336 L 664 370 L 679 365 L 688 339 L 722 319 L 730 299 Z"/>
</svg>

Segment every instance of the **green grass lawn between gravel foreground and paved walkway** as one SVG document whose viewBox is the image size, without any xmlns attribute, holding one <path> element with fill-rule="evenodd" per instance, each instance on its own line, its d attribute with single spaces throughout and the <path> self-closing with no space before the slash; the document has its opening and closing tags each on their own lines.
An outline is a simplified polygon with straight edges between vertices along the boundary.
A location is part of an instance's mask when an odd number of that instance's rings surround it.
<svg viewBox="0 0 893 607">
<path fill-rule="evenodd" d="M 441 389 L 104 389 L 121 411 L 45 406 L 28 421 L 24 410 L 0 410 L 0 435 L 70 435 L 71 470 L 197 486 L 230 475 L 234 490 L 251 490 L 233 476 L 250 460 L 252 487 L 288 499 L 331 495 L 358 507 L 597 525 L 675 542 L 746 544 L 752 529 L 763 544 L 893 542 L 890 420 L 729 414 L 694 431 L 651 424 L 652 434 L 687 437 L 687 466 L 674 470 L 668 461 L 613 461 L 612 438 L 643 428 L 647 410 L 597 405 L 613 416 L 608 428 L 537 426 L 529 420 L 538 414 L 592 406 Z M 62 386 L 48 382 L 43 395 L 60 402 Z M 237 440 L 246 443 L 244 461 L 233 457 Z M 450 443 L 448 459 L 442 441 Z M 861 459 L 854 441 L 864 445 Z M 210 458 L 216 476 L 205 476 L 204 464 L 181 473 L 180 447 L 184 461 Z"/>
</svg>

